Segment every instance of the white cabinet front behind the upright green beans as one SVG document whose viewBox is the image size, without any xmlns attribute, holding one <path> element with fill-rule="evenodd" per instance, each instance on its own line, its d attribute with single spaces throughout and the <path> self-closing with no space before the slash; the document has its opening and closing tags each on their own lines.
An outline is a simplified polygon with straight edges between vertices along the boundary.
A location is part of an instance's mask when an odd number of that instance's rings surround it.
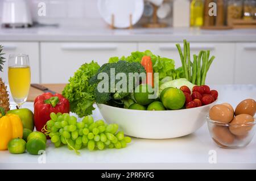
<svg viewBox="0 0 256 181">
<path fill-rule="evenodd" d="M 234 83 L 234 43 L 191 43 L 191 61 L 193 54 L 199 54 L 200 50 L 210 50 L 210 56 L 214 55 L 212 66 L 207 74 L 206 84 L 232 84 Z M 183 44 L 181 44 L 183 48 Z M 175 67 L 181 66 L 179 52 L 175 43 L 139 43 L 139 51 L 151 50 L 153 54 L 175 60 Z M 255 65 L 255 64 L 254 64 Z"/>
</svg>

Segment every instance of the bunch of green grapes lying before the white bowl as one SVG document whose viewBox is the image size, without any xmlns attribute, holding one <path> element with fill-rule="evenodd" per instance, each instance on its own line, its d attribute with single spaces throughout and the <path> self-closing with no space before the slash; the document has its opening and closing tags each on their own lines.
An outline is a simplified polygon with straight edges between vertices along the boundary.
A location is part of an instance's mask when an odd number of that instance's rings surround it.
<svg viewBox="0 0 256 181">
<path fill-rule="evenodd" d="M 68 145 L 76 153 L 82 148 L 89 150 L 104 148 L 125 148 L 131 142 L 130 137 L 125 137 L 118 131 L 118 124 L 106 124 L 103 120 L 94 122 L 92 116 L 86 116 L 77 122 L 75 116 L 68 113 L 51 113 L 51 120 L 47 121 L 47 131 L 55 147 Z"/>
</svg>

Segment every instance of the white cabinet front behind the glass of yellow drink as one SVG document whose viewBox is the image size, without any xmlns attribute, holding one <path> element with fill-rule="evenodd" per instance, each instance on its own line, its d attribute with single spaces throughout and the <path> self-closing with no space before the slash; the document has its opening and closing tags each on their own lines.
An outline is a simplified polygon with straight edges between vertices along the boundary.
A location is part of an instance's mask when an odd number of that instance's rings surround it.
<svg viewBox="0 0 256 181">
<path fill-rule="evenodd" d="M 24 53 L 28 54 L 30 58 L 31 68 L 31 83 L 39 83 L 39 43 L 36 42 L 7 42 L 1 41 L 0 45 L 3 45 L 3 57 L 6 58 L 3 72 L 0 72 L 0 77 L 8 84 L 8 57 L 10 54 Z M 18 78 L 18 77 L 17 77 Z"/>
</svg>

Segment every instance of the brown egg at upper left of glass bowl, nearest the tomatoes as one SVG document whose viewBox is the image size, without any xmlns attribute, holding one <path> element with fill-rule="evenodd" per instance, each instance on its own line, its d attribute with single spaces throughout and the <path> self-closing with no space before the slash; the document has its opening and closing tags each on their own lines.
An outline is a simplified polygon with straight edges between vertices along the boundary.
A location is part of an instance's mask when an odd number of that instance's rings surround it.
<svg viewBox="0 0 256 181">
<path fill-rule="evenodd" d="M 214 121 L 219 121 L 222 123 L 229 123 L 233 119 L 233 112 L 228 107 L 217 104 L 210 108 L 209 112 L 210 119 Z"/>
</svg>

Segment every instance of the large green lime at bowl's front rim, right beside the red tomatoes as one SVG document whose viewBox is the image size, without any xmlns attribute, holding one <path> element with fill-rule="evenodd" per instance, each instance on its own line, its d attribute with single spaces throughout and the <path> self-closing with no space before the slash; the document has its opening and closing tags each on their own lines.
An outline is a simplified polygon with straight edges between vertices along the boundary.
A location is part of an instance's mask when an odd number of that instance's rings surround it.
<svg viewBox="0 0 256 181">
<path fill-rule="evenodd" d="M 163 92 L 161 101 L 164 107 L 170 110 L 179 110 L 185 103 L 185 95 L 180 89 L 170 87 L 168 90 Z"/>
</svg>

